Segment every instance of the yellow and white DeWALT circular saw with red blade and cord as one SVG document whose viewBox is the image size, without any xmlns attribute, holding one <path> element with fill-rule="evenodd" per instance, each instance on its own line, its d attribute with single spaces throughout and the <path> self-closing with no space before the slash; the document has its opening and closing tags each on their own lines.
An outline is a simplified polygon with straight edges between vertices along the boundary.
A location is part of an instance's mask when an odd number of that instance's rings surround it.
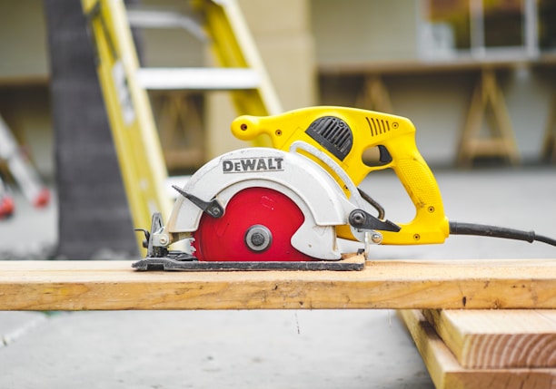
<svg viewBox="0 0 556 389">
<path fill-rule="evenodd" d="M 356 270 L 372 244 L 442 243 L 450 234 L 542 241 L 521 231 L 448 221 L 436 180 L 406 118 L 345 107 L 310 107 L 276 116 L 240 116 L 237 138 L 268 136 L 273 148 L 227 152 L 197 170 L 179 193 L 164 225 L 154 213 L 144 231 L 140 270 Z M 369 149 L 378 151 L 371 163 Z M 415 209 L 408 223 L 358 185 L 375 170 L 392 169 Z M 363 256 L 346 255 L 344 241 Z M 184 248 L 170 245 L 182 242 Z M 353 258 L 363 258 L 353 260 Z"/>
</svg>

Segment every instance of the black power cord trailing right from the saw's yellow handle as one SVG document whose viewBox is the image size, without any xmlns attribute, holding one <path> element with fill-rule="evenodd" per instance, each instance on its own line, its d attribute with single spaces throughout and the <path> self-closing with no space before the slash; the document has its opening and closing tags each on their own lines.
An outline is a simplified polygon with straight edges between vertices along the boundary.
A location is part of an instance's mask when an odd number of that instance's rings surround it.
<svg viewBox="0 0 556 389">
<path fill-rule="evenodd" d="M 551 246 L 556 246 L 556 239 L 537 235 L 534 231 L 507 229 L 505 227 L 488 226 L 484 224 L 460 223 L 458 221 L 451 221 L 450 233 L 452 235 L 476 235 L 480 237 L 525 240 L 529 243 L 538 241 Z"/>
</svg>

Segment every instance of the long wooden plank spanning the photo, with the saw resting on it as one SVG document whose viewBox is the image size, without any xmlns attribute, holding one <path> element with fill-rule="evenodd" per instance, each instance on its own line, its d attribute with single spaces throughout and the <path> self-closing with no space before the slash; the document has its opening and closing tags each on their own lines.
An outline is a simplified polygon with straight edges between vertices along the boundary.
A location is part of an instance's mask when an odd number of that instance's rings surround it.
<svg viewBox="0 0 556 389">
<path fill-rule="evenodd" d="M 556 308 L 556 261 L 371 261 L 361 271 L 139 272 L 0 261 L 0 310 Z"/>
</svg>

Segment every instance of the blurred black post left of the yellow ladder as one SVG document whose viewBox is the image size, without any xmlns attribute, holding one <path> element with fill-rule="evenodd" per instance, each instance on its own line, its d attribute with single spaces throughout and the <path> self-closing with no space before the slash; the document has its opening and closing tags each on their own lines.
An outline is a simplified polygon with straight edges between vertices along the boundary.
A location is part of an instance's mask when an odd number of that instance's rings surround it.
<svg viewBox="0 0 556 389">
<path fill-rule="evenodd" d="M 81 2 L 44 4 L 59 204 L 56 258 L 136 258 L 134 226 Z"/>
</svg>

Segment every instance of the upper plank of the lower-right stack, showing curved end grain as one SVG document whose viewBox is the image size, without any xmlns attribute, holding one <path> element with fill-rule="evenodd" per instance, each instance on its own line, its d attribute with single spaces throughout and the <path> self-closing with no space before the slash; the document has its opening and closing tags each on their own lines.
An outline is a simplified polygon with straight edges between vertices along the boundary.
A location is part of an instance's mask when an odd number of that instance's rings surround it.
<svg viewBox="0 0 556 389">
<path fill-rule="evenodd" d="M 556 310 L 443 309 L 423 315 L 463 367 L 556 367 Z"/>
</svg>

